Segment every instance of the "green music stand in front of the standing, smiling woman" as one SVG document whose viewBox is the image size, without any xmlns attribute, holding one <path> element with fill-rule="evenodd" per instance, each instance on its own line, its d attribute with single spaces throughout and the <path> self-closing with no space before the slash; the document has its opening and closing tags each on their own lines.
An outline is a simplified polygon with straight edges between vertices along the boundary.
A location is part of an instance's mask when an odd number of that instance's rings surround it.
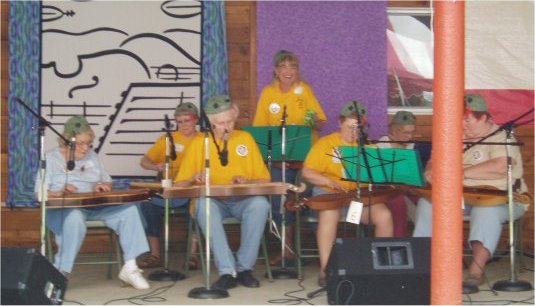
<svg viewBox="0 0 535 306">
<path fill-rule="evenodd" d="M 262 157 L 268 159 L 269 133 L 271 131 L 271 160 L 282 161 L 282 141 L 278 126 L 244 126 L 242 130 L 253 135 Z M 304 125 L 286 126 L 286 161 L 304 161 L 312 144 L 312 130 Z"/>
</svg>

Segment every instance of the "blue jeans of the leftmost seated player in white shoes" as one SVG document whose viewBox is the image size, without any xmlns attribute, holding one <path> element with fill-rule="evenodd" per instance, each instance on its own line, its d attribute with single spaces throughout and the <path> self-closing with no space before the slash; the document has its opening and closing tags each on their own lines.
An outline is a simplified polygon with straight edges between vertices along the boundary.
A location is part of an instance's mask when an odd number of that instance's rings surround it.
<svg viewBox="0 0 535 306">
<path fill-rule="evenodd" d="M 135 259 L 149 250 L 147 238 L 136 205 L 116 205 L 94 208 L 49 208 L 48 228 L 56 236 L 58 253 L 54 265 L 70 273 L 87 231 L 85 221 L 102 220 L 119 235 L 124 260 Z"/>
</svg>

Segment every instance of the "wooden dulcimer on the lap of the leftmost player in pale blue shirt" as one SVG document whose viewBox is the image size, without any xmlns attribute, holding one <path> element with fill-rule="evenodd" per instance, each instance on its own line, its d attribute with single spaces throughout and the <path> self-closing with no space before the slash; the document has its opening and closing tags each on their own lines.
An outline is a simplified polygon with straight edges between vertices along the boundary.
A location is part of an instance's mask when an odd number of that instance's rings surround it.
<svg viewBox="0 0 535 306">
<path fill-rule="evenodd" d="M 122 205 L 146 201 L 150 198 L 149 189 L 118 190 L 109 192 L 68 193 L 61 197 L 49 197 L 48 208 L 96 207 Z"/>
</svg>

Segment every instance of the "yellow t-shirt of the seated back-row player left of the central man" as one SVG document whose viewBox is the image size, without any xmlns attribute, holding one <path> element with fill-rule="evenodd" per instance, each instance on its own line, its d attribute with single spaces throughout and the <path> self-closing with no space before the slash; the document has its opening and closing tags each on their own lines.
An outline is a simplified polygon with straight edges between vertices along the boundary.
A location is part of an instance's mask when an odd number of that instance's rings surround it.
<svg viewBox="0 0 535 306">
<path fill-rule="evenodd" d="M 184 151 L 193 139 L 184 136 L 179 131 L 173 132 L 172 136 L 173 142 L 175 143 L 176 159 L 169 160 L 169 178 L 174 178 L 177 175 L 180 164 L 184 159 Z M 165 134 L 160 136 L 147 153 L 145 153 L 145 156 L 155 164 L 165 162 L 165 137 Z"/>
</svg>

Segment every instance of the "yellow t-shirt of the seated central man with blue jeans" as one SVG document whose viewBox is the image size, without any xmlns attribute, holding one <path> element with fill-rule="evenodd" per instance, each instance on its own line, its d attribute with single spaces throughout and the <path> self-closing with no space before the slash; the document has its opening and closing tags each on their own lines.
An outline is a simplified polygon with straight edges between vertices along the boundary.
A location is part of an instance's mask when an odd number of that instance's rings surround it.
<svg viewBox="0 0 535 306">
<path fill-rule="evenodd" d="M 185 162 L 178 171 L 175 181 L 190 180 L 195 174 L 205 170 L 204 135 L 197 135 L 184 153 Z M 223 149 L 223 142 L 218 142 Z M 267 179 L 271 176 L 262 159 L 262 154 L 254 138 L 245 131 L 234 130 L 227 142 L 228 164 L 221 165 L 212 136 L 209 139 L 210 183 L 214 185 L 232 184 L 234 176 L 243 176 L 248 180 Z"/>
</svg>

